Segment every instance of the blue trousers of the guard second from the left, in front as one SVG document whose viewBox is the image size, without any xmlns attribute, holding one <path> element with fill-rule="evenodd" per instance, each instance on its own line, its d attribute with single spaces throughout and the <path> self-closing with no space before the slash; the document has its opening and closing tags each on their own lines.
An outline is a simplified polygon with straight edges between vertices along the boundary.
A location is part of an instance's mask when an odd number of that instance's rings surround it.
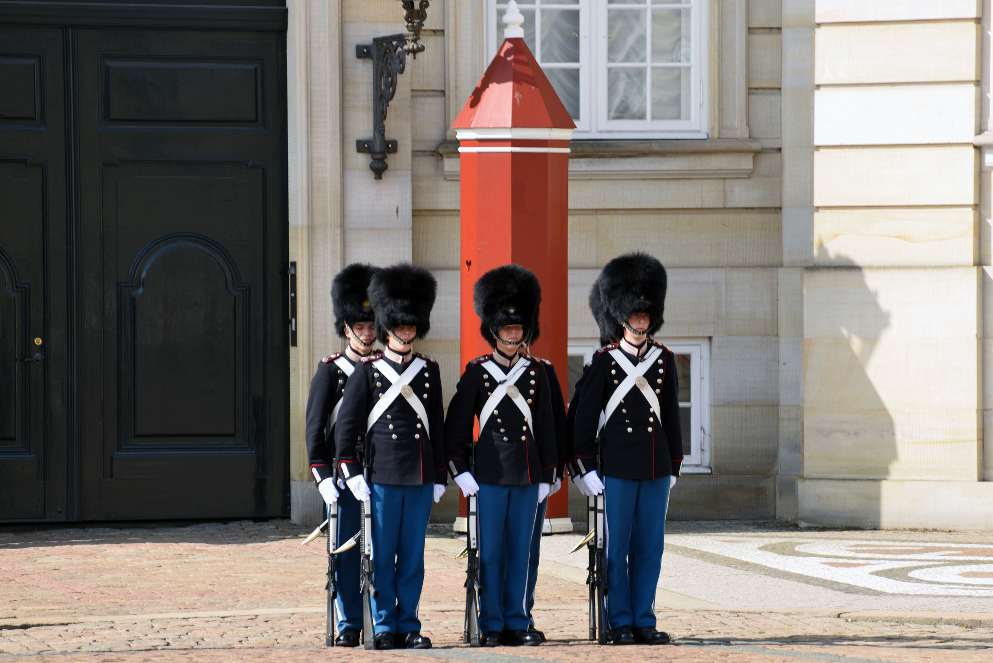
<svg viewBox="0 0 993 663">
<path fill-rule="evenodd" d="M 417 607 L 424 586 L 424 537 L 434 485 L 372 484 L 372 599 L 375 632 L 420 631 Z"/>
</svg>

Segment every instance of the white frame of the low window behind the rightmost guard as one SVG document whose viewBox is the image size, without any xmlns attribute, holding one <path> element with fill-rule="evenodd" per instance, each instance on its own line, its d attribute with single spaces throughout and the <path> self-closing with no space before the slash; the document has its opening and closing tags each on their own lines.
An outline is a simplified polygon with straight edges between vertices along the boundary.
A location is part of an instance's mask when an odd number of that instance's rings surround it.
<svg viewBox="0 0 993 663">
<path fill-rule="evenodd" d="M 676 355 L 690 356 L 690 439 L 683 440 L 683 474 L 710 474 L 710 339 L 655 339 Z M 600 347 L 597 339 L 570 339 L 569 355 L 583 355 L 583 363 L 593 360 Z"/>
</svg>

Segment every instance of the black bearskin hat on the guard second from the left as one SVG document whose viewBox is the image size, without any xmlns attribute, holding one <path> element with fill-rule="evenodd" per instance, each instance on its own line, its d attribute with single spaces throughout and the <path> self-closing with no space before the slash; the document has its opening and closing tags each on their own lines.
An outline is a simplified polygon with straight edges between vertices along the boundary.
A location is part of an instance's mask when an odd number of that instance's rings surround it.
<svg viewBox="0 0 993 663">
<path fill-rule="evenodd" d="M 397 327 L 417 327 L 417 338 L 431 329 L 431 308 L 438 281 L 424 267 L 397 262 L 376 269 L 369 283 L 369 301 L 375 311 L 375 332 L 382 343 Z"/>
</svg>

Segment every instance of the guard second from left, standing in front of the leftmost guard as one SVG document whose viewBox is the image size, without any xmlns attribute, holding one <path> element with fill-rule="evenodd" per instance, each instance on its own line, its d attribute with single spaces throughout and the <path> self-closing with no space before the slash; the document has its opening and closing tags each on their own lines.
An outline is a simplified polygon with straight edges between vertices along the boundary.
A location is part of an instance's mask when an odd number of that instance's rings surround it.
<svg viewBox="0 0 993 663">
<path fill-rule="evenodd" d="M 413 343 L 430 329 L 436 292 L 421 266 L 398 263 L 373 274 L 369 301 L 386 348 L 355 367 L 335 431 L 340 475 L 371 508 L 376 649 L 431 646 L 417 609 L 431 502 L 448 483 L 445 420 L 438 364 L 413 352 Z"/>
</svg>

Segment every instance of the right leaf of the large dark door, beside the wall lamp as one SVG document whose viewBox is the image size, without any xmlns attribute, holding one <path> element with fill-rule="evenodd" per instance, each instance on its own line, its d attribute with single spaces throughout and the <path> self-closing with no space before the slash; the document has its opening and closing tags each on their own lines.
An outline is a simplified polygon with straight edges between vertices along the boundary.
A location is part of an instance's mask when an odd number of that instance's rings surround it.
<svg viewBox="0 0 993 663">
<path fill-rule="evenodd" d="M 77 43 L 83 518 L 285 513 L 283 35 Z"/>
</svg>

